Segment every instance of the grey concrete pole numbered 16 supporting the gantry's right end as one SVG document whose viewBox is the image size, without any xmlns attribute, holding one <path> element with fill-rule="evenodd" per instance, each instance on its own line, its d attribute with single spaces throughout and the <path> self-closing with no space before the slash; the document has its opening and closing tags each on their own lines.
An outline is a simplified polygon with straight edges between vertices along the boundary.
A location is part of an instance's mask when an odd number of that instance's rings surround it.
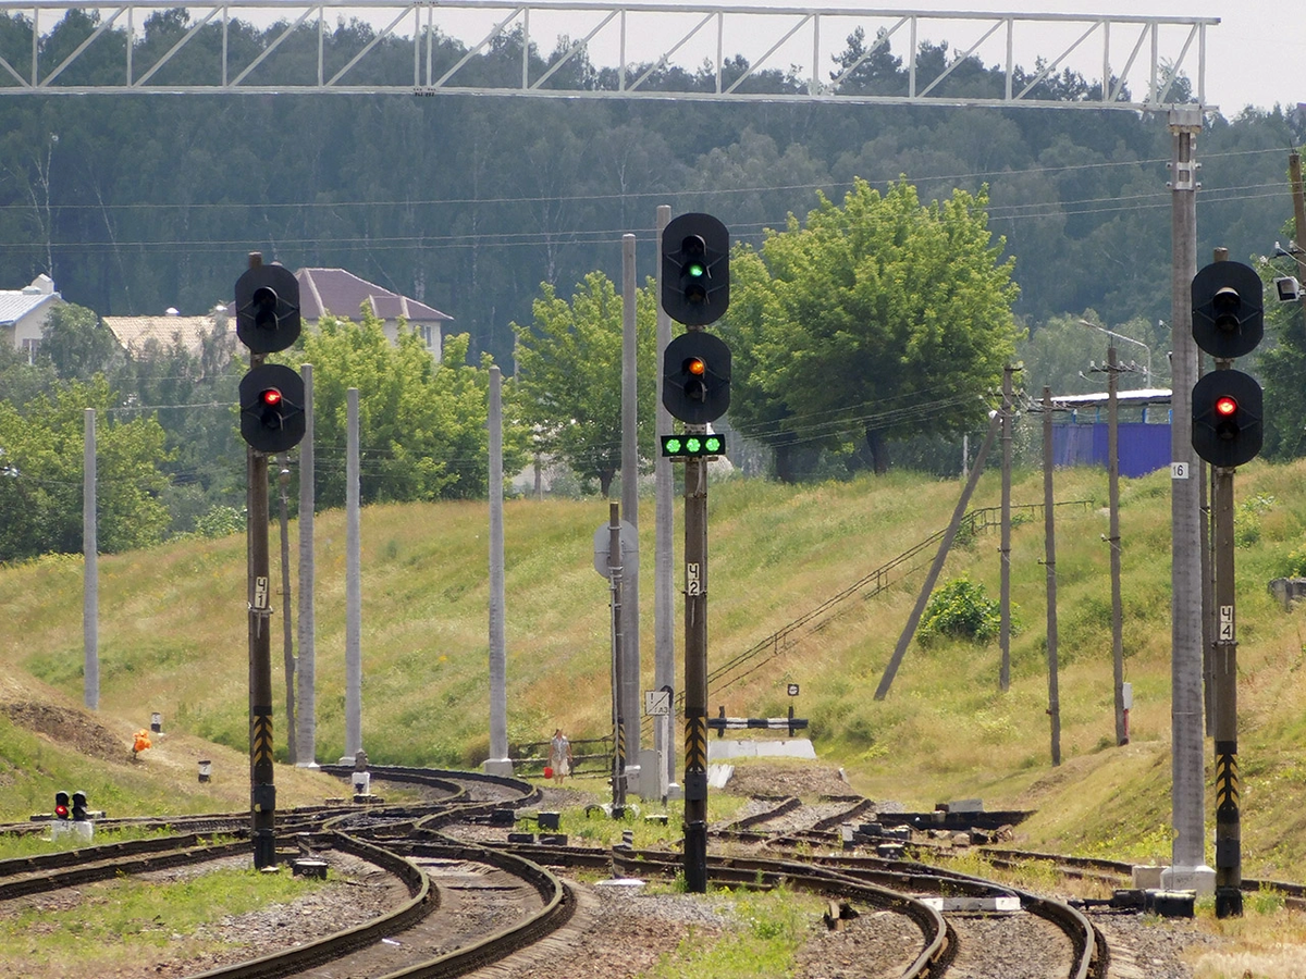
<svg viewBox="0 0 1306 979">
<path fill-rule="evenodd" d="M 1203 867 L 1203 700 L 1200 492 L 1192 450 L 1192 384 L 1198 354 L 1192 339 L 1192 277 L 1196 274 L 1196 154 L 1200 108 L 1170 111 L 1170 234 L 1174 268 L 1170 282 L 1171 426 L 1170 426 L 1170 724 L 1171 724 L 1171 875 L 1168 886 L 1194 886 Z M 1211 873 L 1205 868 L 1205 873 Z M 1187 880 L 1185 880 L 1187 878 Z"/>
</svg>

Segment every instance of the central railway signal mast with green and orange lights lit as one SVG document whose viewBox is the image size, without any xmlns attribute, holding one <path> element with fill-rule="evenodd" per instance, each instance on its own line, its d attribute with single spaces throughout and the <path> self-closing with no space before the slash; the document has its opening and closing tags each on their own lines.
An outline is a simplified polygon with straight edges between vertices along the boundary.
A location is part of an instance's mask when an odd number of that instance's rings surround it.
<svg viewBox="0 0 1306 979">
<path fill-rule="evenodd" d="M 730 305 L 730 232 L 710 214 L 662 231 L 662 308 L 688 332 L 662 355 L 662 405 L 684 422 L 662 454 L 684 459 L 684 880 L 708 889 L 708 458 L 725 441 L 708 423 L 730 407 L 730 347 L 704 333 Z"/>
</svg>

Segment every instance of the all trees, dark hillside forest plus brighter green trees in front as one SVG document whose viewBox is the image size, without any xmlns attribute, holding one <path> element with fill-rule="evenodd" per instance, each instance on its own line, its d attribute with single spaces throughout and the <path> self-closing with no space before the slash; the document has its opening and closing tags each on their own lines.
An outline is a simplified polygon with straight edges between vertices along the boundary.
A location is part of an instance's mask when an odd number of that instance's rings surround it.
<svg viewBox="0 0 1306 979">
<path fill-rule="evenodd" d="M 71 13 L 40 40 L 40 61 L 59 64 L 94 33 L 95 17 Z M 151 17 L 138 29 L 138 63 L 153 63 L 188 29 L 184 10 Z M 248 63 L 277 34 L 246 25 L 229 43 Z M 328 60 L 345 64 L 372 39 L 368 26 L 341 23 L 325 38 Z M 195 40 L 215 57 L 214 29 Z M 466 55 L 453 39 L 435 40 L 440 64 Z M 858 63 L 867 43 L 852 35 L 831 77 Z M 119 72 L 121 44 L 124 34 L 106 31 L 64 81 Z M 316 30 L 294 31 L 283 44 L 299 52 L 299 69 L 313 61 L 316 46 Z M 550 55 L 533 48 L 532 72 L 543 73 L 568 47 L 560 40 Z M 0 17 L 0 55 L 30 51 L 22 16 Z M 376 54 L 367 70 L 377 80 L 411 78 L 410 44 L 383 40 L 383 57 Z M 942 73 L 948 57 L 946 42 L 923 44 L 918 85 Z M 182 84 L 187 72 L 212 68 L 188 59 L 166 65 L 159 81 Z M 469 81 L 520 73 L 520 35 L 499 38 L 469 69 Z M 266 70 L 296 67 L 291 59 Z M 727 80 L 746 70 L 734 59 Z M 568 87 L 616 84 L 584 57 L 562 73 L 571 73 Z M 649 85 L 693 91 L 716 80 L 708 69 L 657 68 Z M 751 90 L 801 85 L 781 72 L 746 81 Z M 841 85 L 900 94 L 906 73 L 882 48 Z M 972 59 L 944 85 L 957 97 L 993 97 L 1002 74 Z M 1064 72 L 1040 86 L 1067 102 L 1094 93 L 1094 82 Z M 658 204 L 716 214 L 742 248 L 735 303 L 720 326 L 738 368 L 725 423 L 768 446 L 781 478 L 883 469 L 888 443 L 899 444 L 893 465 L 955 471 L 952 443 L 982 427 L 981 396 L 995 386 L 1003 360 L 1025 360 L 1027 389 L 1085 390 L 1079 375 L 1089 356 L 1102 359 L 1105 337 L 1084 320 L 1147 346 L 1148 380 L 1169 381 L 1170 134 L 1156 116 L 188 95 L 9 98 L 0 101 L 0 285 L 21 287 L 44 272 L 77 304 L 56 319 L 38 364 L 18 363 L 12 351 L 0 356 L 0 449 L 8 453 L 0 475 L 9 476 L 0 479 L 0 522 L 9 529 L 0 560 L 80 547 L 80 454 L 71 452 L 78 398 L 104 414 L 102 446 L 121 446 L 115 479 L 137 487 L 104 504 L 106 550 L 239 525 L 244 448 L 234 405 L 244 368 L 230 341 L 215 335 L 197 354 L 125 356 L 97 317 L 166 307 L 201 313 L 230 303 L 249 251 L 290 268 L 341 266 L 454 317 L 441 365 L 414 345 L 385 347 L 376 324 L 342 330 L 333 321 L 289 355 L 315 363 L 321 385 L 323 506 L 343 500 L 342 403 L 351 385 L 371 397 L 364 501 L 482 495 L 491 362 L 509 379 L 512 463 L 549 453 L 607 491 L 619 467 L 613 282 L 626 232 L 640 239 L 640 279 L 654 274 Z M 1215 245 L 1245 261 L 1272 253 L 1292 214 L 1286 148 L 1303 137 L 1306 120 L 1280 110 L 1213 120 L 1198 145 L 1199 256 Z M 875 268 L 896 272 L 882 282 L 862 278 Z M 641 350 L 652 342 L 649 288 L 640 296 Z M 836 307 L 842 319 L 823 320 Z M 1306 392 L 1306 326 L 1299 311 L 1271 313 L 1260 352 L 1282 394 L 1271 388 L 1267 397 L 1267 453 L 1290 457 L 1306 450 L 1296 433 L 1296 402 L 1306 394 L 1289 397 Z M 853 343 L 855 355 L 841 343 Z M 1140 354 L 1118 346 L 1123 356 Z M 579 356 L 558 363 L 559 352 Z M 803 372 L 814 364 L 841 382 L 812 384 Z M 1135 377 L 1123 386 L 1141 384 Z M 643 358 L 645 427 L 652 390 L 652 359 Z M 649 457 L 653 435 L 641 429 Z M 46 443 L 56 449 L 38 452 Z"/>
</svg>

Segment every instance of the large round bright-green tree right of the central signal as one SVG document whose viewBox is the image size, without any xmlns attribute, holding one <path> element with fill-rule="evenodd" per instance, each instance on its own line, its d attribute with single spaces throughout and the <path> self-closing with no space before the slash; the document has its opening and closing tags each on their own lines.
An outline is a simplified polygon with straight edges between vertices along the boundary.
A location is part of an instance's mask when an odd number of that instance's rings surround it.
<svg viewBox="0 0 1306 979">
<path fill-rule="evenodd" d="M 841 206 L 819 197 L 806 225 L 790 215 L 731 266 L 731 420 L 781 454 L 863 441 L 884 473 L 895 439 L 987 410 L 1016 338 L 1015 262 L 983 192 L 922 205 L 905 179 L 884 194 L 857 180 Z"/>
</svg>

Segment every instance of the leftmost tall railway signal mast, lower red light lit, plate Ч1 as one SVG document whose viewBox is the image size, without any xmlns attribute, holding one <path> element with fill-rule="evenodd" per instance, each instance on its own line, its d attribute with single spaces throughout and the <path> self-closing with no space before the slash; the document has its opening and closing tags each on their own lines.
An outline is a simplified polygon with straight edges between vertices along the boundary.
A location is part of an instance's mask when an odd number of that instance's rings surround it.
<svg viewBox="0 0 1306 979">
<path fill-rule="evenodd" d="M 299 282 L 290 269 L 249 256 L 236 279 L 236 335 L 249 349 L 240 379 L 240 435 L 248 443 L 249 539 L 249 808 L 256 869 L 277 865 L 277 788 L 272 756 L 272 604 L 268 557 L 268 456 L 304 437 L 304 381 L 291 368 L 265 364 L 266 354 L 299 338 Z"/>
</svg>

